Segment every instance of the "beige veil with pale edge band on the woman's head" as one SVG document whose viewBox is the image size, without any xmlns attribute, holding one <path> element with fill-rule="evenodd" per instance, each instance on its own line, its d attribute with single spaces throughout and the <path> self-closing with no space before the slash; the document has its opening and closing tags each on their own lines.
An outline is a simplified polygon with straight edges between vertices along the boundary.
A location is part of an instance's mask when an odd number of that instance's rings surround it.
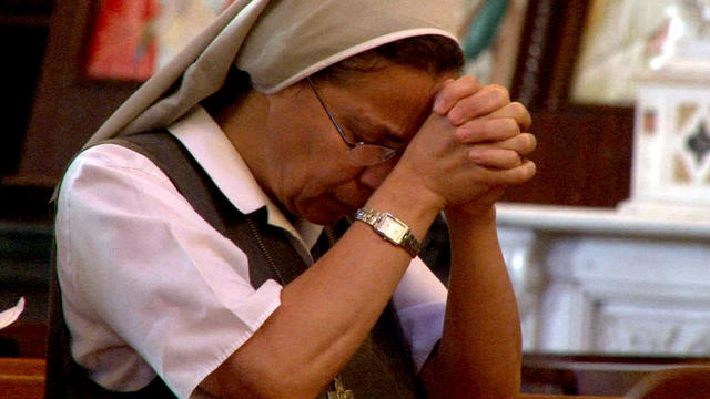
<svg viewBox="0 0 710 399">
<path fill-rule="evenodd" d="M 166 127 L 216 92 L 232 65 L 264 93 L 399 39 L 457 40 L 462 0 L 236 0 L 94 133 L 87 145 Z"/>
</svg>

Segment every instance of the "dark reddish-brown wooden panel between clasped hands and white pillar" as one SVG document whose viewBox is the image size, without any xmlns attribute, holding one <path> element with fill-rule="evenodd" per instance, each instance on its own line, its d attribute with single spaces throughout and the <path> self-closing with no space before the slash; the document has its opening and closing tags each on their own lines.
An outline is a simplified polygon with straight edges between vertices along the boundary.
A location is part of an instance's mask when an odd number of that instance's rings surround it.
<svg viewBox="0 0 710 399">
<path fill-rule="evenodd" d="M 631 110 L 538 110 L 532 117 L 538 174 L 506 201 L 613 207 L 629 196 Z"/>
</svg>

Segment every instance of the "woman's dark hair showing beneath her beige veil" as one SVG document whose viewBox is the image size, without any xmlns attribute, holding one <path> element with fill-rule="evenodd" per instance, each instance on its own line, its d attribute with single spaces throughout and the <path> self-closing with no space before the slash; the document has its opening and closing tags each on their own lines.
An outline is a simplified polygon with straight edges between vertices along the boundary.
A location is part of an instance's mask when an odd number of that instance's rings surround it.
<svg viewBox="0 0 710 399">
<path fill-rule="evenodd" d="M 420 35 L 397 40 L 339 61 L 314 75 L 334 83 L 347 82 L 353 73 L 367 73 L 388 65 L 409 66 L 433 75 L 458 72 L 464 53 L 454 40 L 443 35 Z M 232 68 L 222 88 L 202 101 L 212 114 L 237 101 L 250 90 L 248 74 Z"/>
</svg>

